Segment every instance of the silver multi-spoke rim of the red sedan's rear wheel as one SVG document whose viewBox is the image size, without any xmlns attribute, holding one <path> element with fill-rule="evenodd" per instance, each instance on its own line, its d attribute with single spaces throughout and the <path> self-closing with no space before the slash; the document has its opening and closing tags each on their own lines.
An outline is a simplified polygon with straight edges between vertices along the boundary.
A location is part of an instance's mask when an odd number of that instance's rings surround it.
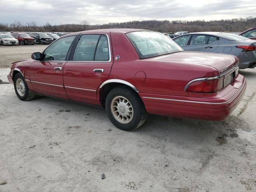
<svg viewBox="0 0 256 192">
<path fill-rule="evenodd" d="M 131 103 L 123 96 L 117 96 L 112 100 L 111 112 L 114 118 L 123 124 L 129 123 L 134 113 Z"/>
</svg>

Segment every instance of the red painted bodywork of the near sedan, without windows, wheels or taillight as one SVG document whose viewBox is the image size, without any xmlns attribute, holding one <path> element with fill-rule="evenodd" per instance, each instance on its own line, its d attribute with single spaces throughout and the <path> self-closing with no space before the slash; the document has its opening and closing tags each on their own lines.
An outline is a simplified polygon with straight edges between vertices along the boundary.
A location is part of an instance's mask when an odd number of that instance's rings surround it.
<svg viewBox="0 0 256 192">
<path fill-rule="evenodd" d="M 100 85 L 104 81 L 124 80 L 138 90 L 146 110 L 152 114 L 222 120 L 239 104 L 246 90 L 246 80 L 240 74 L 232 84 L 215 93 L 184 90 L 191 80 L 219 76 L 236 65 L 238 58 L 226 54 L 177 52 L 140 59 L 125 34 L 133 31 L 141 30 L 104 29 L 74 33 L 107 34 L 110 62 L 64 61 L 58 64 L 25 60 L 14 63 L 12 70 L 20 70 L 28 79 L 29 88 L 35 92 L 91 104 L 100 104 Z M 115 60 L 116 56 L 120 59 Z M 54 70 L 54 67 L 62 67 L 62 70 Z M 104 72 L 94 72 L 94 69 L 104 69 Z M 11 74 L 8 75 L 10 82 Z"/>
</svg>

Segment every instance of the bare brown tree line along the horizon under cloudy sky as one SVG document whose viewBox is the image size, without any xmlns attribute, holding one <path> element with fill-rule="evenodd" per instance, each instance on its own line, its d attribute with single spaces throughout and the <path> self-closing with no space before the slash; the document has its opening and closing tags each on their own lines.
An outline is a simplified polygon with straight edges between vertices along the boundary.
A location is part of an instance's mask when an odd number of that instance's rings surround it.
<svg viewBox="0 0 256 192">
<path fill-rule="evenodd" d="M 154 30 L 159 32 L 177 32 L 177 31 L 222 31 L 222 32 L 242 32 L 248 28 L 256 26 L 256 18 L 235 18 L 227 20 L 145 20 L 129 22 L 112 22 L 102 25 L 91 25 L 87 20 L 80 24 L 59 24 L 51 25 L 46 22 L 44 25 L 38 25 L 36 22 L 22 23 L 0 23 L 0 31 L 20 31 L 20 32 L 77 32 L 83 30 L 103 29 L 103 28 L 140 28 Z"/>
</svg>

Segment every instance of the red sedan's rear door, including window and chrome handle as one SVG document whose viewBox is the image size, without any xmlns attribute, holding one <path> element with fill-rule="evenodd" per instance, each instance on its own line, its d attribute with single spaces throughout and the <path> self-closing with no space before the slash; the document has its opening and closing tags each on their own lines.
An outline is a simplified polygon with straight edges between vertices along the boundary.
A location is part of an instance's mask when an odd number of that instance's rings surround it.
<svg viewBox="0 0 256 192">
<path fill-rule="evenodd" d="M 83 34 L 66 65 L 63 80 L 71 100 L 98 104 L 97 89 L 110 75 L 110 34 Z"/>
</svg>

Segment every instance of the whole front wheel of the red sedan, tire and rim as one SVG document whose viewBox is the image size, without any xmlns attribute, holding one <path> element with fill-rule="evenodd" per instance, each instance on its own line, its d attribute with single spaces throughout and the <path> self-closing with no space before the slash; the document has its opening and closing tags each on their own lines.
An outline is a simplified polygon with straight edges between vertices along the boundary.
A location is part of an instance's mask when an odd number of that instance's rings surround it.
<svg viewBox="0 0 256 192">
<path fill-rule="evenodd" d="M 14 77 L 14 89 L 18 98 L 22 101 L 32 100 L 36 97 L 36 94 L 29 90 L 21 73 L 17 73 Z"/>
</svg>

